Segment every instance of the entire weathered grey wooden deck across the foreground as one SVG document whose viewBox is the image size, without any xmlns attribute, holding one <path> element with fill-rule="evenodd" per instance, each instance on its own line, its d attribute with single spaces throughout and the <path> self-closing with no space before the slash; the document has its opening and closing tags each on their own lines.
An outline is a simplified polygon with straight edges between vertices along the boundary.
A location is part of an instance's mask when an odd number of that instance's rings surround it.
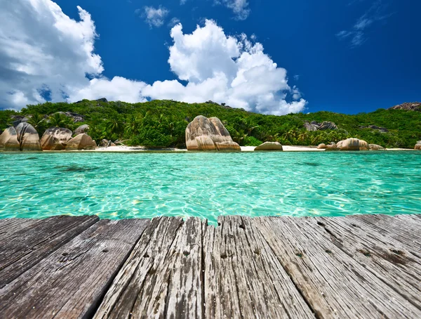
<svg viewBox="0 0 421 319">
<path fill-rule="evenodd" d="M 421 215 L 0 219 L 0 318 L 421 318 Z"/>
</svg>

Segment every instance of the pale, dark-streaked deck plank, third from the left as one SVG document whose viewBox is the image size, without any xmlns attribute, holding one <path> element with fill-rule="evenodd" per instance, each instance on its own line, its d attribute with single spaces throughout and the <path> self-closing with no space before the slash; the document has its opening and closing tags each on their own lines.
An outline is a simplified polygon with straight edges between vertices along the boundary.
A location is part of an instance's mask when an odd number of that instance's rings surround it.
<svg viewBox="0 0 421 319">
<path fill-rule="evenodd" d="M 171 271 L 163 267 L 182 219 L 152 219 L 109 287 L 94 318 L 163 317 Z M 155 300 L 159 300 L 158 303 Z"/>
</svg>

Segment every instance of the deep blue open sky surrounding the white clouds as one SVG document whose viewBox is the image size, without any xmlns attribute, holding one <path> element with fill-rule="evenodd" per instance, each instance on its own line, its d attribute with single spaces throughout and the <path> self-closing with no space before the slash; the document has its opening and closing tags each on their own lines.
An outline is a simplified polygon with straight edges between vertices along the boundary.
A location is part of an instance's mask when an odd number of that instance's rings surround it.
<svg viewBox="0 0 421 319">
<path fill-rule="evenodd" d="M 204 27 L 206 19 L 211 19 L 223 30 L 222 34 L 226 37 L 235 38 L 246 34 L 247 41 L 252 45 L 256 42 L 262 44 L 262 52 L 272 59 L 269 62 L 276 63 L 277 73 L 270 79 L 279 82 L 279 85 L 256 93 L 259 94 L 258 98 L 239 96 L 237 93 L 233 97 L 232 93 L 227 93 L 225 98 L 230 96 L 236 107 L 246 103 L 246 109 L 272 114 L 300 110 L 303 112 L 330 110 L 354 114 L 421 100 L 419 58 L 421 26 L 418 22 L 421 12 L 420 1 L 220 0 L 218 3 L 214 0 L 185 0 L 184 4 L 168 0 L 57 0 L 55 2 L 64 15 L 76 22 L 81 20 L 77 6 L 81 6 L 91 15 L 99 37 L 93 40 L 94 51 L 89 58 L 91 59 L 94 53 L 98 55 L 103 70 L 98 70 L 96 67 L 96 75 L 89 78 L 122 77 L 137 80 L 138 84 L 132 83 L 133 90 L 142 91 L 140 95 L 146 99 L 161 98 L 161 94 L 165 91 L 163 98 L 175 96 L 175 99 L 191 101 L 190 99 L 194 98 L 187 93 L 178 98 L 175 93 L 168 93 L 171 89 L 167 86 L 164 87 L 162 83 L 161 86 L 156 86 L 154 82 L 178 80 L 180 84 L 187 86 L 189 82 L 203 84 L 202 82 L 206 81 L 206 79 L 194 79 L 193 71 L 189 73 L 189 60 L 187 65 L 182 65 L 180 59 L 186 54 L 189 58 L 192 58 L 192 55 L 182 51 L 186 42 L 180 42 L 178 47 L 174 44 L 174 39 L 171 37 L 171 27 L 173 27 L 171 20 L 176 18 L 182 24 L 180 37 L 183 37 L 183 41 L 187 41 L 186 34 L 192 34 L 197 25 Z M 148 13 L 150 13 L 149 20 Z M 42 30 L 43 27 L 48 28 L 48 24 L 31 28 L 36 29 L 36 27 Z M 209 43 L 203 41 L 201 45 L 210 45 Z M 168 58 L 171 46 L 177 48 L 182 56 L 170 65 Z M 196 53 L 199 56 L 202 54 L 206 56 L 203 51 Z M 206 57 L 208 61 L 212 61 L 211 56 Z M 237 58 L 239 57 L 234 57 L 234 60 Z M 209 63 L 218 63 L 218 59 Z M 206 61 L 204 64 L 206 66 Z M 186 70 L 182 69 L 183 67 Z M 199 73 L 204 72 L 203 67 L 203 63 L 197 66 Z M 281 74 L 280 68 L 286 69 L 286 75 Z M 196 70 L 194 67 L 192 69 Z M 52 71 L 51 74 L 55 73 Z M 51 74 L 48 77 L 51 78 Z M 186 75 L 183 77 L 182 74 Z M 73 80 L 72 74 L 65 74 L 62 77 L 61 81 L 69 78 Z M 256 83 L 259 84 L 261 80 L 258 75 L 256 77 Z M 281 84 L 284 80 L 287 84 Z M 42 82 L 46 91 L 53 86 L 49 83 L 50 79 Z M 143 85 L 151 87 L 143 90 Z M 255 83 L 250 85 L 256 86 Z M 121 86 L 126 85 L 121 84 Z M 39 87 L 36 90 L 39 91 Z M 78 93 L 74 94 L 75 98 L 84 97 L 81 92 L 86 93 L 86 90 L 86 88 L 78 89 Z M 20 91 L 23 91 L 25 96 L 24 89 L 12 87 L 7 92 L 17 99 L 18 93 L 15 92 Z M 265 94 L 268 92 L 273 96 L 266 100 Z M 299 96 L 293 98 L 297 92 Z M 94 93 L 86 94 L 87 98 L 90 98 Z M 98 95 L 100 92 L 95 91 L 95 94 Z M 215 96 L 215 93 L 213 94 Z M 63 96 L 66 98 L 72 96 L 72 93 L 66 91 Z M 116 96 L 126 97 L 120 92 L 117 92 Z M 305 105 L 300 101 L 305 101 Z M 267 105 L 263 105 L 265 103 Z M 276 106 L 279 103 L 283 105 L 282 108 Z"/>
</svg>

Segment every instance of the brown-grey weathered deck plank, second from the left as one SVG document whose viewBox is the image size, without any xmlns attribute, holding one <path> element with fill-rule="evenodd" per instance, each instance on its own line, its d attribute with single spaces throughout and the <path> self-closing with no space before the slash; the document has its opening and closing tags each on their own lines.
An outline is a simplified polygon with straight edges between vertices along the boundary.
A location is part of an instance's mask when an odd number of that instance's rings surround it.
<svg viewBox="0 0 421 319">
<path fill-rule="evenodd" d="M 0 289 L 3 318 L 93 315 L 149 220 L 102 220 Z"/>
</svg>

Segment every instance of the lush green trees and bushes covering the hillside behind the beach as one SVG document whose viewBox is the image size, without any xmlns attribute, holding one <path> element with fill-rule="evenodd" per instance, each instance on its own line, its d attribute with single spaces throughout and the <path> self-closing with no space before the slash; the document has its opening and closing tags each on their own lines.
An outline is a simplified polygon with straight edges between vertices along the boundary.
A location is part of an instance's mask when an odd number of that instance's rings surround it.
<svg viewBox="0 0 421 319">
<path fill-rule="evenodd" d="M 57 112 L 82 115 L 83 122 L 74 122 Z M 183 147 L 187 124 L 197 115 L 218 117 L 234 141 L 240 145 L 260 145 L 279 141 L 283 145 L 318 145 L 355 137 L 388 148 L 413 148 L 421 140 L 421 112 L 412 110 L 377 110 L 358 115 L 334 112 L 298 113 L 284 116 L 261 115 L 229 108 L 216 103 L 181 103 L 173 100 L 152 100 L 146 103 L 82 100 L 78 103 L 44 103 L 27 105 L 20 112 L 0 111 L 0 129 L 11 126 L 13 115 L 25 115 L 41 136 L 51 126 L 76 129 L 88 124 L 88 134 L 97 141 L 102 138 L 125 141 L 127 145 L 148 147 Z M 305 122 L 335 122 L 338 129 L 307 131 Z M 388 130 L 361 129 L 380 126 Z"/>
</svg>

